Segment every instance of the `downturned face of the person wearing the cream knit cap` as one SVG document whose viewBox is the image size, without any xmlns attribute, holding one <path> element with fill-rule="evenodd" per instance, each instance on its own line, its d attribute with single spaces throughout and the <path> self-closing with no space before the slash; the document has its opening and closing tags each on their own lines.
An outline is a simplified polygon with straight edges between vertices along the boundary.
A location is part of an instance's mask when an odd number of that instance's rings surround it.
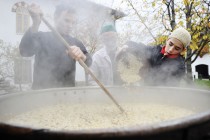
<svg viewBox="0 0 210 140">
<path fill-rule="evenodd" d="M 180 54 L 184 50 L 184 45 L 176 38 L 170 38 L 166 41 L 165 51 L 168 54 Z"/>
</svg>

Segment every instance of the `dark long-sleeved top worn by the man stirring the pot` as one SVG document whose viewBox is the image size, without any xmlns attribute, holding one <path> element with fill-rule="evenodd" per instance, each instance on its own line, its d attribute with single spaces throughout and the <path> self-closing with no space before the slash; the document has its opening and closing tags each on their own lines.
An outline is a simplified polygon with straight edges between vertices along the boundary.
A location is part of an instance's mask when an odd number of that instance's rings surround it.
<svg viewBox="0 0 210 140">
<path fill-rule="evenodd" d="M 86 64 L 92 59 L 84 45 L 77 39 L 66 36 L 70 45 L 80 47 L 87 56 Z M 75 86 L 75 60 L 66 53 L 66 47 L 52 32 L 31 33 L 30 29 L 20 42 L 20 54 L 23 57 L 35 56 L 33 89 Z"/>
</svg>

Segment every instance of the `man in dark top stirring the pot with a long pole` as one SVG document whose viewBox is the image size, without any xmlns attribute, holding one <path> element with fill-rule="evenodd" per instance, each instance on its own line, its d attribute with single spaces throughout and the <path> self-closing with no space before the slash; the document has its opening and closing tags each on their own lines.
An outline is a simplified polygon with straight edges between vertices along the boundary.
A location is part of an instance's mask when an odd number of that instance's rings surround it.
<svg viewBox="0 0 210 140">
<path fill-rule="evenodd" d="M 23 57 L 35 56 L 32 89 L 75 86 L 76 60 L 82 59 L 88 66 L 92 62 L 85 46 L 69 35 L 76 23 L 75 11 L 59 5 L 54 13 L 55 28 L 70 45 L 67 49 L 54 33 L 38 31 L 43 15 L 40 7 L 32 4 L 28 10 L 33 24 L 19 49 Z"/>
</svg>

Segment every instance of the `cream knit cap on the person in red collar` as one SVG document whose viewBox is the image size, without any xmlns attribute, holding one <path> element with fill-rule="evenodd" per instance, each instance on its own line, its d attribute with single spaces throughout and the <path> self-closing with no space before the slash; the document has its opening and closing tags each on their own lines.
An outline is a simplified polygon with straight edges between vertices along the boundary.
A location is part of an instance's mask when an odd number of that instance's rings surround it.
<svg viewBox="0 0 210 140">
<path fill-rule="evenodd" d="M 182 27 L 179 27 L 177 29 L 175 29 L 171 35 L 169 35 L 169 38 L 176 38 L 178 39 L 179 41 L 182 42 L 182 44 L 184 45 L 184 47 L 187 47 L 188 45 L 190 45 L 190 42 L 191 42 L 191 35 L 190 33 L 182 28 Z"/>
</svg>

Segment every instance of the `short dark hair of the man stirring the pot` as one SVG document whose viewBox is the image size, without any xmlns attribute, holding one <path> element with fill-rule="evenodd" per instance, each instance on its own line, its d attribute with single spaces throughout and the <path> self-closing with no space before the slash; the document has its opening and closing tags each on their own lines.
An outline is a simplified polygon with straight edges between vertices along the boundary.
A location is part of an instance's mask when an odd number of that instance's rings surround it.
<svg viewBox="0 0 210 140">
<path fill-rule="evenodd" d="M 60 14 L 63 11 L 68 11 L 69 13 L 72 13 L 72 14 L 76 13 L 76 10 L 73 7 L 69 6 L 68 4 L 60 4 L 56 6 L 54 17 L 60 16 Z"/>
</svg>

